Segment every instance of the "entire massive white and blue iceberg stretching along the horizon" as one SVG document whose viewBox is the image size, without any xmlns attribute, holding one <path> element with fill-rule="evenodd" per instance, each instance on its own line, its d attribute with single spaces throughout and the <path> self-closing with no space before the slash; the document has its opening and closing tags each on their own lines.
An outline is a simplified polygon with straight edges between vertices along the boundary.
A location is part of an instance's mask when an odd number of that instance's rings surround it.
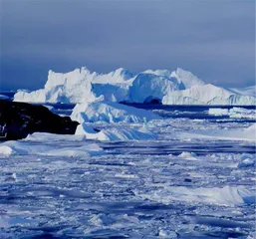
<svg viewBox="0 0 256 239">
<path fill-rule="evenodd" d="M 49 71 L 44 89 L 31 93 L 20 90 L 14 101 L 77 104 L 104 96 L 108 102 L 248 106 L 256 104 L 251 89 L 228 90 L 205 84 L 180 68 L 173 72 L 146 70 L 138 74 L 121 68 L 99 74 L 83 67 L 64 74 Z"/>
</svg>

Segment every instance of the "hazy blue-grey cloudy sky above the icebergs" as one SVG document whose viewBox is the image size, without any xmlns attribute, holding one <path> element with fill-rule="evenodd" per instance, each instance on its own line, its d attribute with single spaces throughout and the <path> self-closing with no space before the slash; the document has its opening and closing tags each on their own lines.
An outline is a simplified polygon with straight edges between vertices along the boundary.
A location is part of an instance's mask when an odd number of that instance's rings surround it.
<svg viewBox="0 0 256 239">
<path fill-rule="evenodd" d="M 0 0 L 0 90 L 43 88 L 48 71 L 182 68 L 255 85 L 254 0 Z"/>
</svg>

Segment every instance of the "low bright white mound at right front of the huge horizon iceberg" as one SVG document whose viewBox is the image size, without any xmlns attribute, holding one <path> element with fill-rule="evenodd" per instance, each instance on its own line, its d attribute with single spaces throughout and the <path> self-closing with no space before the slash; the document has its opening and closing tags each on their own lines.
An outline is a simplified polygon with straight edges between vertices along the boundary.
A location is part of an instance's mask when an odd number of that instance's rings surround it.
<svg viewBox="0 0 256 239">
<path fill-rule="evenodd" d="M 193 86 L 183 91 L 175 91 L 162 99 L 163 105 L 226 105 L 254 106 L 256 98 L 235 95 L 211 84 Z"/>
</svg>

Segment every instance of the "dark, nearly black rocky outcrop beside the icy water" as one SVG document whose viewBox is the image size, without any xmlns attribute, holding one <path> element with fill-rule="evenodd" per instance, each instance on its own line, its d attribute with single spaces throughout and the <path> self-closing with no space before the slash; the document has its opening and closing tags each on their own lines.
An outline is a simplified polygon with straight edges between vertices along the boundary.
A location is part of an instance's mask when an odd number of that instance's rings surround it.
<svg viewBox="0 0 256 239">
<path fill-rule="evenodd" d="M 74 134 L 78 124 L 43 106 L 0 100 L 0 140 L 21 139 L 35 131 Z"/>
</svg>

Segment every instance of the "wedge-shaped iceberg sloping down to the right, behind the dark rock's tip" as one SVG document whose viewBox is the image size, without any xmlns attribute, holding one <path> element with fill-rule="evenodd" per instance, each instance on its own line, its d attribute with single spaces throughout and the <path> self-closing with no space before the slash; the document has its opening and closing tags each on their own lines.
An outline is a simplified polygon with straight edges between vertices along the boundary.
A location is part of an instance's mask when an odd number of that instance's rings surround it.
<svg viewBox="0 0 256 239">
<path fill-rule="evenodd" d="M 118 103 L 94 102 L 76 105 L 71 119 L 79 122 L 143 122 L 160 118 L 148 111 Z"/>
</svg>

